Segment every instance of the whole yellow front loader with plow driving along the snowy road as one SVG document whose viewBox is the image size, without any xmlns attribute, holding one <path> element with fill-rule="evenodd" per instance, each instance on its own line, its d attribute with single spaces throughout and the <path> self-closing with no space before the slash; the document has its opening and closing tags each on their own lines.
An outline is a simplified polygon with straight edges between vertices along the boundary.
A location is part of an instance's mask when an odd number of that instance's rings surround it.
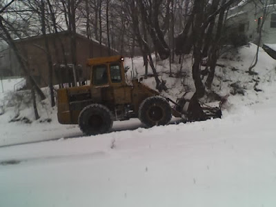
<svg viewBox="0 0 276 207">
<path fill-rule="evenodd" d="M 60 124 L 79 124 L 86 135 L 108 132 L 113 121 L 137 117 L 148 127 L 166 125 L 172 118 L 204 120 L 220 117 L 219 109 L 206 115 L 195 96 L 179 103 L 140 83 L 126 83 L 124 57 L 88 59 L 90 85 L 62 88 L 57 91 L 57 116 Z M 169 101 L 175 104 L 171 107 Z M 187 104 L 189 103 L 188 107 Z M 192 104 L 190 103 L 195 103 Z M 197 106 L 198 104 L 198 106 Z M 186 109 L 184 109 L 186 108 Z"/>
</svg>

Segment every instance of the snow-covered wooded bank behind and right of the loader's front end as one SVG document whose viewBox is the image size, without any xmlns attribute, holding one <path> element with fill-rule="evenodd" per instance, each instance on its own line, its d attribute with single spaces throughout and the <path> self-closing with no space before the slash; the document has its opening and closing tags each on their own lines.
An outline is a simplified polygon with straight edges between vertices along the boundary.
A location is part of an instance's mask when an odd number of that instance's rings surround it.
<svg viewBox="0 0 276 207">
<path fill-rule="evenodd" d="M 221 96 L 230 95 L 233 88 L 230 86 L 232 83 L 239 83 L 239 86 L 250 91 L 254 89 L 257 80 L 258 89 L 262 89 L 264 83 L 268 81 L 274 81 L 276 61 L 271 58 L 262 48 L 259 48 L 259 58 L 257 65 L 253 71 L 257 72 L 257 75 L 248 75 L 246 71 L 255 60 L 255 53 L 257 46 L 250 43 L 248 46 L 243 46 L 239 49 L 232 49 L 221 55 L 221 59 L 218 61 L 218 65 L 215 72 L 215 79 L 213 81 L 213 90 Z M 155 57 L 153 57 L 155 60 Z M 175 63 L 172 63 L 172 77 L 169 77 L 169 61 L 157 61 L 157 72 L 159 72 L 159 79 L 166 81 L 168 92 L 164 92 L 164 95 L 170 96 L 174 99 L 181 97 L 187 90 L 195 90 L 195 86 L 192 78 L 191 68 L 193 62 L 191 56 L 188 55 L 182 60 L 183 65 L 178 64 L 179 57 L 175 57 Z M 128 77 L 144 77 L 143 59 L 136 57 L 133 59 L 133 67 L 131 59 L 126 59 L 126 66 L 133 68 L 128 70 Z M 204 67 L 202 67 L 204 70 Z M 152 70 L 148 66 L 149 74 L 152 75 Z M 181 78 L 180 77 L 180 71 Z M 134 74 L 134 75 L 133 75 Z M 206 77 L 204 77 L 204 81 Z M 155 79 L 150 77 L 143 81 L 150 88 L 155 88 Z"/>
</svg>

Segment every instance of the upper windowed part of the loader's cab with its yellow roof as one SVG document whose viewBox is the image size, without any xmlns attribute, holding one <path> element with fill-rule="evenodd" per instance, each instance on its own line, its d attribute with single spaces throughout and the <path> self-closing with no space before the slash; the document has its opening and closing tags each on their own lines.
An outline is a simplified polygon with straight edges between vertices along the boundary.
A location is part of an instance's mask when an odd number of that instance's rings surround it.
<svg viewBox="0 0 276 207">
<path fill-rule="evenodd" d="M 92 87 L 126 86 L 124 58 L 121 56 L 88 59 Z"/>
</svg>

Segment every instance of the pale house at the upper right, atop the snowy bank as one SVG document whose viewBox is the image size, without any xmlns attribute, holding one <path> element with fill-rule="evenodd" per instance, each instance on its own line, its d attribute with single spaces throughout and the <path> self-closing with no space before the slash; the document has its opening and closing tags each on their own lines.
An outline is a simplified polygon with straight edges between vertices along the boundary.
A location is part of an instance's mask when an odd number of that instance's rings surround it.
<svg viewBox="0 0 276 207">
<path fill-rule="evenodd" d="M 266 15 L 264 15 L 266 11 Z M 235 28 L 237 32 L 244 32 L 249 41 L 257 43 L 259 29 L 264 21 L 262 28 L 262 42 L 276 43 L 276 0 L 260 1 L 241 1 L 237 6 L 228 10 L 226 17 L 227 25 Z"/>
</svg>

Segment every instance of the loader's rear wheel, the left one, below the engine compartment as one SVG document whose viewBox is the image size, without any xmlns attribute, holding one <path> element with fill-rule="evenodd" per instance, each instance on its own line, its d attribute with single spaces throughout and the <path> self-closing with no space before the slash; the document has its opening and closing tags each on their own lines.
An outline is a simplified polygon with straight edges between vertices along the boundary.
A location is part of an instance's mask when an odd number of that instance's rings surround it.
<svg viewBox="0 0 276 207">
<path fill-rule="evenodd" d="M 86 135 L 106 133 L 112 128 L 110 110 L 101 104 L 91 104 L 81 110 L 79 114 L 79 128 Z"/>
</svg>

